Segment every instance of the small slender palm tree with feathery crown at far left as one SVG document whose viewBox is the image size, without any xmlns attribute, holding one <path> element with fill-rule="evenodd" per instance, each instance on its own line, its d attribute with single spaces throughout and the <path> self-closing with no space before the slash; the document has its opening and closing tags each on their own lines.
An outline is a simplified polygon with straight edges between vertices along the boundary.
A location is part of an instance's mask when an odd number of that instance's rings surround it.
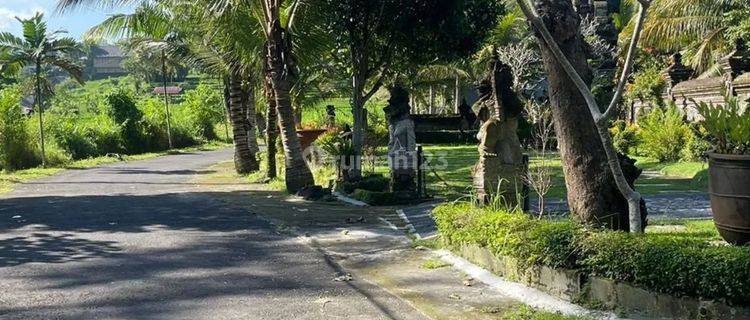
<svg viewBox="0 0 750 320">
<path fill-rule="evenodd" d="M 42 83 L 46 83 L 44 70 L 57 67 L 79 83 L 83 83 L 83 66 L 70 55 L 81 51 L 80 44 L 73 38 L 60 37 L 65 31 L 47 32 L 44 15 L 37 13 L 29 19 L 16 18 L 23 26 L 21 38 L 10 32 L 0 32 L 0 70 L 20 69 L 32 66 L 34 69 L 34 104 L 39 114 L 39 144 L 42 151 L 42 166 L 46 166 L 44 150 L 44 97 Z"/>
</svg>

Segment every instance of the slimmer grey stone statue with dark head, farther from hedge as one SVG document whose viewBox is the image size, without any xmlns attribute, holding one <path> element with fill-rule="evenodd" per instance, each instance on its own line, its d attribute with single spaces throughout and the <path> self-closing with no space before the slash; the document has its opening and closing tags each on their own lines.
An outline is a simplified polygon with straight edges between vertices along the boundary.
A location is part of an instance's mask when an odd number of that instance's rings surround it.
<svg viewBox="0 0 750 320">
<path fill-rule="evenodd" d="M 388 166 L 391 170 L 390 189 L 399 196 L 416 194 L 417 144 L 414 121 L 409 114 L 409 92 L 396 85 L 384 109 L 388 117 Z"/>
</svg>

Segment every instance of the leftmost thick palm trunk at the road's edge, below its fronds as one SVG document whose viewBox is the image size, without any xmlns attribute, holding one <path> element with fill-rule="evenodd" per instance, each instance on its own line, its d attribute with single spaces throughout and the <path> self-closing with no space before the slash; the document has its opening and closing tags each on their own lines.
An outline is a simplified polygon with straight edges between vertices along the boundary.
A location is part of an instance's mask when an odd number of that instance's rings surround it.
<svg viewBox="0 0 750 320">
<path fill-rule="evenodd" d="M 234 167 L 239 174 L 248 174 L 259 169 L 249 141 L 247 126 L 247 112 L 243 100 L 245 92 L 242 90 L 242 79 L 232 74 L 229 78 L 229 115 L 232 119 L 232 133 L 234 136 Z"/>
</svg>

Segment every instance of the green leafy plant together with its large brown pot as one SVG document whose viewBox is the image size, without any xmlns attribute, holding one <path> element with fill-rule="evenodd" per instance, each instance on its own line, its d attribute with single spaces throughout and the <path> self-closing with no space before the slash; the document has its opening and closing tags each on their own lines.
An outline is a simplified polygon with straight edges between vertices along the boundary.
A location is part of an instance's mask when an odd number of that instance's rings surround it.
<svg viewBox="0 0 750 320">
<path fill-rule="evenodd" d="M 696 103 L 711 137 L 709 194 L 714 223 L 727 242 L 750 243 L 750 111 L 736 97 L 721 106 Z"/>
</svg>

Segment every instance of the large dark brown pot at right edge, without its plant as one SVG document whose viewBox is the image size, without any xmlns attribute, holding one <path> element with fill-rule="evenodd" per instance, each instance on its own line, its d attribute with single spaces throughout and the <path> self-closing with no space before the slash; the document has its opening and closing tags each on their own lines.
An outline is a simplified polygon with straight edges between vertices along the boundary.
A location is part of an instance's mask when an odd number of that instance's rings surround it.
<svg viewBox="0 0 750 320">
<path fill-rule="evenodd" d="M 727 242 L 750 243 L 750 155 L 709 154 L 714 222 Z"/>
</svg>

